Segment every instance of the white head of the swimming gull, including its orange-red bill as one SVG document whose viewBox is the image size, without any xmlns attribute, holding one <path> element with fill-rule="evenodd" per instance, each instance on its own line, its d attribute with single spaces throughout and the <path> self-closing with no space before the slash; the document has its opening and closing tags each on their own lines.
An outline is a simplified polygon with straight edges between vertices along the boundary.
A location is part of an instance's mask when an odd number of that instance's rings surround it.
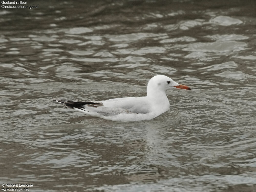
<svg viewBox="0 0 256 192">
<path fill-rule="evenodd" d="M 148 91 L 167 91 L 174 88 L 179 89 L 188 89 L 191 90 L 189 87 L 176 83 L 171 78 L 165 75 L 156 75 L 152 77 L 147 84 L 147 92 Z"/>
</svg>

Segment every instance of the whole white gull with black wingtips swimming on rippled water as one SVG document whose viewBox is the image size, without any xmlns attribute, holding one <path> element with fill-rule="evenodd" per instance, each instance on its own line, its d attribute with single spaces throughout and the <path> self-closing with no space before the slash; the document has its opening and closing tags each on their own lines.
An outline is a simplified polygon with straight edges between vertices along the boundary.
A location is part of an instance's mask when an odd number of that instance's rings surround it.
<svg viewBox="0 0 256 192">
<path fill-rule="evenodd" d="M 156 75 L 148 81 L 147 96 L 145 97 L 123 97 L 89 102 L 55 99 L 53 101 L 63 103 L 66 108 L 106 120 L 119 122 L 142 121 L 153 119 L 168 111 L 170 103 L 166 91 L 175 88 L 191 90 L 167 76 Z"/>
</svg>

